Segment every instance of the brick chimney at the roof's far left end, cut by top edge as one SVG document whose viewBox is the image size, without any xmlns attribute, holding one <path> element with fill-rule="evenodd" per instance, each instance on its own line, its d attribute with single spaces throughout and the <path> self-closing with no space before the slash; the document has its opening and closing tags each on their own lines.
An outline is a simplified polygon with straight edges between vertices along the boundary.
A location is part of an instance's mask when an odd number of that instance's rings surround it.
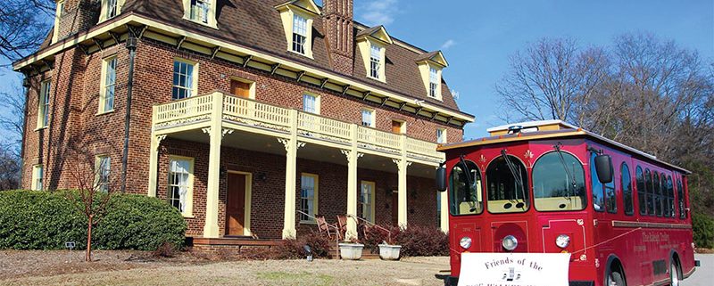
<svg viewBox="0 0 714 286">
<path fill-rule="evenodd" d="M 100 5 L 101 1 L 99 0 L 64 1 L 64 11 L 60 17 L 57 39 L 62 40 L 94 27 L 99 20 Z"/>
</svg>

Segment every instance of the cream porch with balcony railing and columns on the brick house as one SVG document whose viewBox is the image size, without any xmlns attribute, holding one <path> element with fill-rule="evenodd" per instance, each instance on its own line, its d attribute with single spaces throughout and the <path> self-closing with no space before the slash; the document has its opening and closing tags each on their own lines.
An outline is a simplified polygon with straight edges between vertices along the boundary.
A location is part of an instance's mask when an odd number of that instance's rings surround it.
<svg viewBox="0 0 714 286">
<path fill-rule="evenodd" d="M 157 190 L 161 189 L 158 168 L 162 145 L 173 141 L 205 146 L 207 171 L 204 178 L 203 238 L 220 238 L 228 234 L 225 225 L 221 224 L 226 215 L 226 200 L 230 199 L 224 197 L 221 184 L 231 180 L 228 174 L 243 175 L 244 180 L 251 181 L 264 180 L 266 173 L 271 173 L 270 179 L 284 176 L 284 180 L 281 179 L 284 183 L 281 199 L 284 200 L 274 200 L 274 203 L 282 205 L 281 235 L 286 239 L 295 238 L 301 225 L 309 225 L 300 222 L 296 212 L 299 202 L 297 184 L 302 174 L 297 168 L 298 161 L 333 166 L 325 171 L 330 174 L 342 169 L 340 172 L 344 172 L 345 181 L 339 192 L 346 190 L 346 202 L 339 213 L 351 216 L 363 215 L 358 213 L 361 186 L 358 169 L 362 174 L 372 171 L 396 173 L 394 188 L 385 184 L 382 189 L 386 190 L 384 192 L 395 191 L 395 221 L 399 225 L 407 225 L 410 214 L 408 176 L 412 177 L 411 181 L 419 178 L 433 180 L 434 169 L 444 160 L 444 154 L 436 151 L 436 143 L 222 93 L 154 106 L 152 121 L 149 196 L 156 196 Z M 229 155 L 236 151 L 262 153 L 265 154 L 263 160 L 278 164 L 280 158 L 283 163 L 279 163 L 279 168 L 252 168 L 253 165 L 265 164 L 248 156 L 236 159 L 236 156 Z M 245 172 L 246 168 L 253 171 Z M 284 174 L 279 172 L 283 170 Z M 305 171 L 304 168 L 301 170 Z M 250 192 L 249 187 L 244 192 Z M 433 197 L 436 200 L 436 191 Z M 245 199 L 248 201 L 243 203 L 250 208 L 250 196 L 245 196 Z M 384 200 L 387 200 L 386 195 Z M 442 209 L 446 209 L 445 201 L 442 198 Z M 379 201 L 380 204 L 383 202 Z M 433 208 L 436 208 L 436 202 Z M 442 213 L 445 215 L 445 212 Z M 246 234 L 250 234 L 250 211 L 245 215 L 242 217 L 243 225 L 248 226 Z M 441 225 L 446 225 L 445 218 L 442 216 Z M 350 220 L 347 237 L 355 237 L 356 233 L 357 225 Z"/>
</svg>

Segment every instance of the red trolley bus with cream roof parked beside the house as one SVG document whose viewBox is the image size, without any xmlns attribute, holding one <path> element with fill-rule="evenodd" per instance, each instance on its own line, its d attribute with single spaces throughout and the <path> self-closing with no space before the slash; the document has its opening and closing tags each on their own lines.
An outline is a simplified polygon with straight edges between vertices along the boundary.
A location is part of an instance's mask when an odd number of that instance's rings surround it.
<svg viewBox="0 0 714 286">
<path fill-rule="evenodd" d="M 570 285 L 678 285 L 693 274 L 689 171 L 559 120 L 488 131 L 439 147 L 446 285 L 464 252 L 570 253 Z"/>
</svg>

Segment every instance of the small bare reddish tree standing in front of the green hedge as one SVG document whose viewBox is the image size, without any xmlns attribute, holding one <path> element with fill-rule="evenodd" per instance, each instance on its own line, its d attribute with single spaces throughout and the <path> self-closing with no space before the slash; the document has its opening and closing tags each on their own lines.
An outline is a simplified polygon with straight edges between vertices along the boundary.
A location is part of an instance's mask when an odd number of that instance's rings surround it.
<svg viewBox="0 0 714 286">
<path fill-rule="evenodd" d="M 75 149 L 66 161 L 69 174 L 77 186 L 77 192 L 70 192 L 68 199 L 75 208 L 87 217 L 87 251 L 85 261 L 92 261 L 92 229 L 98 225 L 107 210 L 111 208 L 112 195 L 118 190 L 119 181 L 109 173 L 108 160 L 95 159 L 84 149 Z"/>
</svg>

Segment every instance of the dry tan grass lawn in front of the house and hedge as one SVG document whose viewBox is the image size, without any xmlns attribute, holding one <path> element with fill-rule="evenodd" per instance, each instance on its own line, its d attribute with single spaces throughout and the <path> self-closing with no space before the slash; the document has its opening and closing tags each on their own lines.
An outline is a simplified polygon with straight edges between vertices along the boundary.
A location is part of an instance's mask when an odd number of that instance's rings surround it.
<svg viewBox="0 0 714 286">
<path fill-rule="evenodd" d="M 434 274 L 448 257 L 403 261 L 229 261 L 181 254 L 154 258 L 136 251 L 0 251 L 3 285 L 443 285 Z"/>
</svg>

